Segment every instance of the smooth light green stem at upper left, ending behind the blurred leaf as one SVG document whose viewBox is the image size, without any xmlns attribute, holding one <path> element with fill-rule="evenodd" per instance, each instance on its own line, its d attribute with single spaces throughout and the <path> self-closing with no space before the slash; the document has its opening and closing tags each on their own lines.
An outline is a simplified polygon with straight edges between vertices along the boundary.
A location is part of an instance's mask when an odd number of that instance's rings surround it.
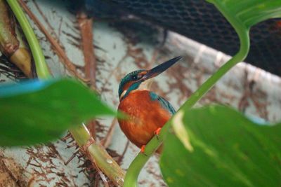
<svg viewBox="0 0 281 187">
<path fill-rule="evenodd" d="M 45 63 L 45 57 L 41 50 L 41 46 L 33 32 L 32 27 L 30 26 L 30 22 L 28 22 L 27 18 L 25 17 L 25 13 L 23 13 L 22 8 L 20 8 L 20 5 L 18 4 L 17 0 L 6 1 L 11 7 L 13 13 L 15 14 L 15 18 L 17 18 L 18 22 L 20 23 L 20 27 L 22 27 L 22 31 L 25 34 L 28 44 L 30 45 L 30 50 L 34 58 L 38 77 L 50 78 L 51 74 L 48 71 L 48 67 Z"/>
</svg>

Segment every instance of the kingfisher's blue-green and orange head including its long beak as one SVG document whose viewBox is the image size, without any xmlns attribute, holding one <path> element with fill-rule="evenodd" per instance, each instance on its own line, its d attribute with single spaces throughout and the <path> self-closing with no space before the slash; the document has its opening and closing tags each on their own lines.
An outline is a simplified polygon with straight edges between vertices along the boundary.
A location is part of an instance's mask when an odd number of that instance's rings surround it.
<svg viewBox="0 0 281 187">
<path fill-rule="evenodd" d="M 161 74 L 173 64 L 178 62 L 178 60 L 181 60 L 181 57 L 174 57 L 173 59 L 159 64 L 157 67 L 154 67 L 150 70 L 141 69 L 126 74 L 119 84 L 119 99 L 122 100 L 129 95 L 129 92 L 141 88 L 141 85 L 144 85 L 145 81 L 148 81 L 148 79 Z"/>
</svg>

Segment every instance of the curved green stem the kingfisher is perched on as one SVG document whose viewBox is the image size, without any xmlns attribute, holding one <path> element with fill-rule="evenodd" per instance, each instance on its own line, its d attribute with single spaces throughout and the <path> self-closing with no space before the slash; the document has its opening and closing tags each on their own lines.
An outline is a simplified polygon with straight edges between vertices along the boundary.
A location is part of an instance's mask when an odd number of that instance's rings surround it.
<svg viewBox="0 0 281 187">
<path fill-rule="evenodd" d="M 220 10 L 224 13 L 223 10 Z M 228 18 L 228 15 L 225 15 Z M 196 104 L 208 91 L 213 87 L 213 85 L 225 75 L 232 67 L 238 62 L 242 62 L 249 53 L 249 29 L 243 27 L 240 22 L 233 18 L 228 18 L 230 23 L 235 27 L 235 30 L 240 38 L 240 50 L 232 57 L 226 64 L 216 71 L 207 81 L 205 81 L 200 88 L 198 88 L 186 101 L 179 110 L 190 109 Z M 139 153 L 136 158 L 131 162 L 129 169 L 126 172 L 124 187 L 138 186 L 138 175 L 141 169 L 144 167 L 145 163 L 148 161 L 150 156 L 157 150 L 157 148 L 162 144 L 164 137 L 169 132 L 169 127 L 171 126 L 172 118 L 162 127 L 159 137 L 153 137 L 150 142 L 145 146 L 145 153 Z"/>
</svg>

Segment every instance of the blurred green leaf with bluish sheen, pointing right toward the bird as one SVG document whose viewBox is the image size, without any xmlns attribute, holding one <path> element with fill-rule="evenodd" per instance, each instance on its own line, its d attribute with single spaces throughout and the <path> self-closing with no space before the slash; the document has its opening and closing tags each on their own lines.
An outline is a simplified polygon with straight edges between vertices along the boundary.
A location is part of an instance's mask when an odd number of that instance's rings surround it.
<svg viewBox="0 0 281 187">
<path fill-rule="evenodd" d="M 72 79 L 0 86 L 0 146 L 51 141 L 71 125 L 115 115 L 98 96 Z"/>
</svg>

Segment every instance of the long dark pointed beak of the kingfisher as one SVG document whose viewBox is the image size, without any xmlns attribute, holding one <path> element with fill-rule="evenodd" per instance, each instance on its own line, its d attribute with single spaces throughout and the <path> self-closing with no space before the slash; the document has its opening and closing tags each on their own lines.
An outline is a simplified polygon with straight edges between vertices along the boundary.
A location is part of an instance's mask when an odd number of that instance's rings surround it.
<svg viewBox="0 0 281 187">
<path fill-rule="evenodd" d="M 142 80 L 148 80 L 149 78 L 155 77 L 159 74 L 161 74 L 162 72 L 166 71 L 166 69 L 168 69 L 169 67 L 171 67 L 172 65 L 174 65 L 176 62 L 178 62 L 178 60 L 181 60 L 182 57 L 174 57 L 171 60 L 168 60 L 166 62 L 163 62 L 162 64 L 159 64 L 157 67 L 154 67 L 150 70 L 148 70 L 148 73 L 145 74 L 142 78 Z"/>
</svg>

